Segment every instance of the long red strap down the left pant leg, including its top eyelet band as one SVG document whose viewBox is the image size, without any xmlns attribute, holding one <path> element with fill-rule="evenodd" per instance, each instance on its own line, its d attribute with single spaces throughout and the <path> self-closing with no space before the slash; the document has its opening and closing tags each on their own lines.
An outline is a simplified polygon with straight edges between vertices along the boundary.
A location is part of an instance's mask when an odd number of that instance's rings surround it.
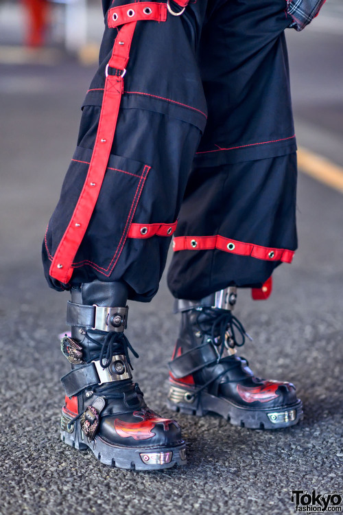
<svg viewBox="0 0 343 515">
<path fill-rule="evenodd" d="M 123 18 L 121 21 L 120 17 Z M 117 34 L 113 53 L 106 67 L 102 111 L 86 181 L 49 271 L 51 277 L 58 279 L 62 284 L 67 284 L 71 279 L 73 274 L 72 263 L 86 233 L 104 180 L 117 126 L 121 95 L 123 94 L 123 76 L 126 72 L 137 21 L 141 19 L 165 21 L 167 19 L 167 8 L 163 3 L 130 3 L 110 9 L 108 19 L 111 19 L 110 27 L 125 24 Z M 117 25 L 116 22 L 118 22 Z M 115 69 L 113 75 L 108 74 L 109 67 Z"/>
</svg>

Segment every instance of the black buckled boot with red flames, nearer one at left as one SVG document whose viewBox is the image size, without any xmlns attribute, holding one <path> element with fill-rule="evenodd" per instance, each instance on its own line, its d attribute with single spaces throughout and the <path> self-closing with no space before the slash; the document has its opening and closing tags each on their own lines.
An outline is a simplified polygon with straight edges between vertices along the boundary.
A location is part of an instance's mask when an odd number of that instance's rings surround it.
<svg viewBox="0 0 343 515">
<path fill-rule="evenodd" d="M 90 448 L 99 461 L 119 468 L 156 470 L 185 464 L 178 424 L 149 409 L 132 382 L 128 350 L 137 354 L 123 334 L 126 299 L 121 283 L 94 281 L 71 291 L 71 338 L 61 341 L 72 364 L 62 378 L 66 403 L 61 438 L 75 448 Z"/>
</svg>

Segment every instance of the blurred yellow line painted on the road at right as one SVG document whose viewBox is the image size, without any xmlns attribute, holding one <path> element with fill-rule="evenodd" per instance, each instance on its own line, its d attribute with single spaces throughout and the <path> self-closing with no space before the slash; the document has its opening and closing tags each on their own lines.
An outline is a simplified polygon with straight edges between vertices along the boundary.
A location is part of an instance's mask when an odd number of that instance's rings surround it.
<svg viewBox="0 0 343 515">
<path fill-rule="evenodd" d="M 306 148 L 298 149 L 298 168 L 343 193 L 343 168 Z"/>
</svg>

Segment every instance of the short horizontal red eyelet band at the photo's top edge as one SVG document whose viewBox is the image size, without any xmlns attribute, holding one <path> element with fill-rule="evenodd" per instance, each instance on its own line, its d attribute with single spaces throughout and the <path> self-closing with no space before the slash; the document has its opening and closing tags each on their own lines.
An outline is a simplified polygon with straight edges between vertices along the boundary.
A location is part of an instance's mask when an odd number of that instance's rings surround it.
<svg viewBox="0 0 343 515">
<path fill-rule="evenodd" d="M 155 2 L 126 3 L 108 10 L 108 27 L 114 29 L 132 21 L 166 21 L 167 4 Z M 122 45 L 123 46 L 123 45 Z"/>
</svg>

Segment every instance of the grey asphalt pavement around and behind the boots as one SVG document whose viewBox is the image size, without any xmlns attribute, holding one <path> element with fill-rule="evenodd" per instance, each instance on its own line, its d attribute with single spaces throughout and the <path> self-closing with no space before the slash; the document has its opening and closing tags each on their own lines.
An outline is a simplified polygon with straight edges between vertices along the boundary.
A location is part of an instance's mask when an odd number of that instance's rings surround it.
<svg viewBox="0 0 343 515">
<path fill-rule="evenodd" d="M 321 23 L 289 34 L 298 141 L 343 165 L 343 35 Z M 0 71 L 1 515 L 283 515 L 296 513 L 292 490 L 342 492 L 342 194 L 300 173 L 294 264 L 274 273 L 270 301 L 239 292 L 236 315 L 254 337 L 242 354 L 257 375 L 296 384 L 303 422 L 252 431 L 178 414 L 187 466 L 108 468 L 60 442 L 60 376 L 69 367 L 58 334 L 69 295 L 47 288 L 40 265 L 93 68 L 70 61 Z M 131 304 L 127 332 L 141 356 L 134 377 L 168 417 L 167 361 L 178 325 L 171 305 L 163 278 L 152 303 Z"/>
</svg>

